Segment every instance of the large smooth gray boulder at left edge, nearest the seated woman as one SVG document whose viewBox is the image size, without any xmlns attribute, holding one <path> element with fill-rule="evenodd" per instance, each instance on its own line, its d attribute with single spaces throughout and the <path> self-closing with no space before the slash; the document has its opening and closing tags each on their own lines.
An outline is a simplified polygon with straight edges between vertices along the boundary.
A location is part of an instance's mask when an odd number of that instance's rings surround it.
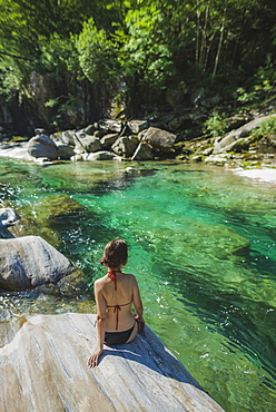
<svg viewBox="0 0 276 412">
<path fill-rule="evenodd" d="M 76 268 L 39 236 L 0 238 L 0 288 L 24 291 L 58 283 Z"/>
</svg>

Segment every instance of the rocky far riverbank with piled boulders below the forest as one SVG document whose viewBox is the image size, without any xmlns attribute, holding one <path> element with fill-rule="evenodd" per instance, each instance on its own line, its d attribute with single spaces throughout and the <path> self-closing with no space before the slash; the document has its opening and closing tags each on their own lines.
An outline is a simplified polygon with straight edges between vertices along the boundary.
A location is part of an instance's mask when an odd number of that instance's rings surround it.
<svg viewBox="0 0 276 412">
<path fill-rule="evenodd" d="M 49 163 L 57 160 L 203 161 L 231 167 L 276 167 L 276 115 L 240 118 L 218 137 L 185 139 L 179 133 L 152 126 L 148 120 L 102 120 L 80 130 L 48 136 L 37 129 L 30 139 L 2 141 L 0 157 Z"/>
</svg>

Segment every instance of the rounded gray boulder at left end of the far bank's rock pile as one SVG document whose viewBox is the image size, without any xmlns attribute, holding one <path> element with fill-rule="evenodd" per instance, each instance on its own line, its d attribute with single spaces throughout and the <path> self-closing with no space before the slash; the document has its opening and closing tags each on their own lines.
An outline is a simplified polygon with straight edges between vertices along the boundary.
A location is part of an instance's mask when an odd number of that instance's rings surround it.
<svg viewBox="0 0 276 412">
<path fill-rule="evenodd" d="M 57 160 L 59 157 L 56 143 L 46 135 L 33 136 L 28 143 L 28 153 L 33 157 L 46 157 Z"/>
</svg>

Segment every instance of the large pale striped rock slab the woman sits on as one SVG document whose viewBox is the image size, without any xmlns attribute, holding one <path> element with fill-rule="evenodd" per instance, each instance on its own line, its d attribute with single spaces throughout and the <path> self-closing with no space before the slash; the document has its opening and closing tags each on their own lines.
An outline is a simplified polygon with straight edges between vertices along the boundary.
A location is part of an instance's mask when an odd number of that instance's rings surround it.
<svg viewBox="0 0 276 412">
<path fill-rule="evenodd" d="M 96 315 L 34 315 L 0 349 L 1 412 L 223 411 L 146 327 L 105 346 L 96 369 Z"/>
</svg>

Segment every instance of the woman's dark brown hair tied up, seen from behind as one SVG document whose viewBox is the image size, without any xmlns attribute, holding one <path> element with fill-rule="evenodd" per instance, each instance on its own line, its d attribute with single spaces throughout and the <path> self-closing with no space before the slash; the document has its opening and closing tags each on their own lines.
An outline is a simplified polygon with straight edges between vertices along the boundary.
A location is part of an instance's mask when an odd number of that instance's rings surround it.
<svg viewBox="0 0 276 412">
<path fill-rule="evenodd" d="M 106 245 L 100 264 L 112 268 L 126 265 L 127 259 L 128 245 L 125 241 L 116 238 Z"/>
</svg>

